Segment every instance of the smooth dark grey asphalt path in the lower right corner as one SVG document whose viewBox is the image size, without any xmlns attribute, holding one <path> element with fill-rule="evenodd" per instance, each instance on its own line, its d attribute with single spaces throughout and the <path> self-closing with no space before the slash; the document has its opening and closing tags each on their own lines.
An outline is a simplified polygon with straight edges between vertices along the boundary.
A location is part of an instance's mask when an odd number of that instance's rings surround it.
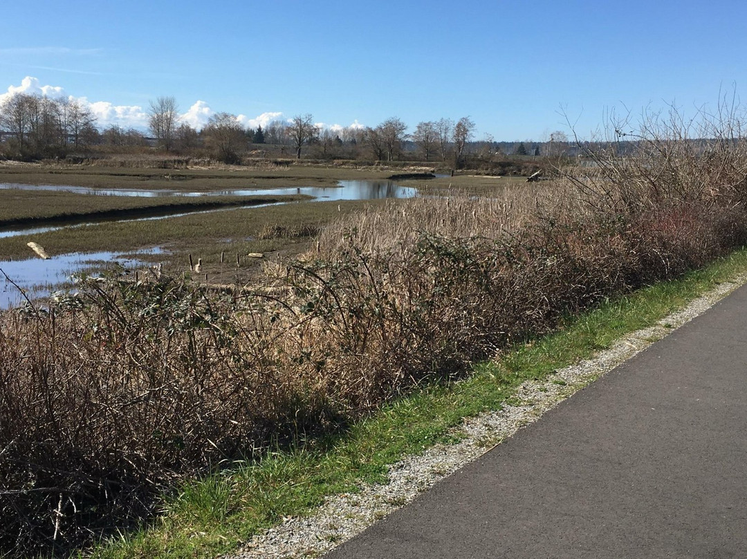
<svg viewBox="0 0 747 559">
<path fill-rule="evenodd" d="M 747 287 L 325 557 L 747 558 Z"/>
</svg>

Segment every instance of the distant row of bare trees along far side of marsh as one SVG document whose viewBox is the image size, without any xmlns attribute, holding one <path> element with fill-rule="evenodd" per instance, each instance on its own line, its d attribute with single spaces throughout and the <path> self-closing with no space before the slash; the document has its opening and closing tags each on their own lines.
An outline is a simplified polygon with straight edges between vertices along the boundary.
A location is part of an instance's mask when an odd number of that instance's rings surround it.
<svg viewBox="0 0 747 559">
<path fill-rule="evenodd" d="M 235 114 L 213 114 L 201 130 L 179 117 L 172 96 L 150 102 L 149 136 L 117 125 L 100 128 L 90 108 L 72 99 L 16 93 L 0 105 L 0 155 L 29 160 L 61 158 L 70 153 L 98 150 L 152 150 L 199 155 L 228 164 L 242 158 L 278 157 L 322 160 L 425 161 L 459 169 L 489 164 L 507 155 L 532 158 L 568 152 L 562 132 L 549 141 L 496 142 L 475 140 L 470 117 L 447 118 L 408 126 L 391 117 L 378 126 L 329 129 L 316 126 L 311 114 L 275 120 L 264 128 L 245 128 Z"/>
</svg>

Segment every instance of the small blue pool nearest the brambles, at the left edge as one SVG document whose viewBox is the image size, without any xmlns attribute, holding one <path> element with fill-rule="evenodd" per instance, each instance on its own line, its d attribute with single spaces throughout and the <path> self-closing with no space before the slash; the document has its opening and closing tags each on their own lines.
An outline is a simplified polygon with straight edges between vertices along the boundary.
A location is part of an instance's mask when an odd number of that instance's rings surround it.
<svg viewBox="0 0 747 559">
<path fill-rule="evenodd" d="M 70 276 L 80 271 L 101 271 L 117 262 L 127 269 L 145 265 L 137 255 L 160 254 L 160 247 L 138 250 L 137 254 L 127 253 L 71 253 L 55 256 L 49 260 L 6 260 L 0 261 L 0 309 L 18 306 L 24 300 L 18 288 L 25 291 L 29 299 L 47 297 L 69 283 Z M 7 277 L 6 277 L 7 276 Z M 10 278 L 16 285 L 13 285 Z"/>
</svg>

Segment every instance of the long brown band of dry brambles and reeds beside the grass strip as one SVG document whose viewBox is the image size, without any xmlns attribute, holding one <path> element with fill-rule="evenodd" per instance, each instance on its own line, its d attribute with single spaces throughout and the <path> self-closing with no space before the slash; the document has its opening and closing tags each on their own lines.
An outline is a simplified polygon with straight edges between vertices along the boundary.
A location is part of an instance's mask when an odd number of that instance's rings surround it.
<svg viewBox="0 0 747 559">
<path fill-rule="evenodd" d="M 347 217 L 251 292 L 114 278 L 5 313 L 2 548 L 63 551 L 137 522 L 187 475 L 339 427 L 742 245 L 747 141 L 706 124 L 713 139 L 695 142 L 648 123 L 636 153 L 589 153 L 593 174 Z M 281 229 L 266 235 L 307 234 Z"/>
</svg>

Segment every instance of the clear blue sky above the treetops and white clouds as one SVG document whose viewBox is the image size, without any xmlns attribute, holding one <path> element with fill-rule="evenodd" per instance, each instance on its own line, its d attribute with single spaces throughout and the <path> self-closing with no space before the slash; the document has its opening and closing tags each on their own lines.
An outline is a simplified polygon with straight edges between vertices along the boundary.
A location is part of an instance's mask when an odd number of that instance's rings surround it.
<svg viewBox="0 0 747 559">
<path fill-rule="evenodd" d="M 2 19 L 0 93 L 84 98 L 123 126 L 174 96 L 194 123 L 470 116 L 478 139 L 542 140 L 567 132 L 561 108 L 587 136 L 611 108 L 747 87 L 743 1 L 35 0 Z"/>
</svg>

